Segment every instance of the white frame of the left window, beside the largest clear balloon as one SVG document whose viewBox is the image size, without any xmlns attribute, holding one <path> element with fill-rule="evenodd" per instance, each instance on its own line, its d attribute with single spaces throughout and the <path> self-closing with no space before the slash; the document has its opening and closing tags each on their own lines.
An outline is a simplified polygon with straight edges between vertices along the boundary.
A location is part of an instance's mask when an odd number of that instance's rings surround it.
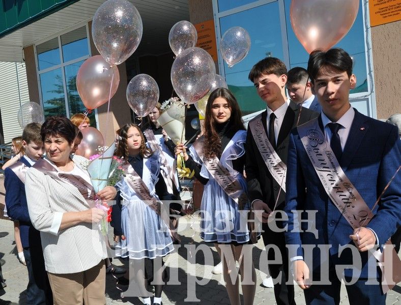
<svg viewBox="0 0 401 305">
<path fill-rule="evenodd" d="M 85 26 L 86 32 L 87 32 L 87 42 L 88 42 L 88 51 L 89 54 L 88 55 L 84 55 L 75 59 L 71 59 L 68 62 L 63 62 L 63 46 L 61 43 L 61 36 L 63 36 L 64 34 L 67 34 L 69 32 L 75 31 L 76 29 Z M 39 99 L 40 99 L 40 105 L 42 107 L 42 109 L 44 110 L 44 105 L 43 105 L 43 97 L 42 97 L 42 86 L 40 83 L 40 75 L 55 69 L 59 69 L 61 68 L 61 74 L 62 74 L 62 79 L 63 79 L 63 89 L 64 89 L 64 102 L 65 102 L 65 107 L 66 107 L 66 115 L 67 117 L 71 116 L 70 113 L 70 106 L 68 104 L 68 97 L 67 97 L 67 83 L 66 83 L 66 75 L 65 75 L 65 67 L 71 65 L 71 64 L 75 64 L 78 62 L 81 62 L 82 60 L 86 60 L 88 58 L 90 58 L 92 56 L 92 50 L 91 50 L 91 41 L 90 41 L 90 32 L 89 32 L 89 24 L 88 21 L 83 21 L 83 22 L 79 22 L 77 24 L 74 24 L 73 26 L 67 27 L 66 29 L 64 29 L 64 31 L 61 31 L 59 33 L 56 33 L 52 36 L 48 36 L 44 39 L 35 41 L 34 43 L 34 53 L 35 53 L 35 64 L 36 64 L 36 75 L 37 75 L 37 80 L 38 80 L 38 88 L 39 88 Z M 42 43 L 45 43 L 49 40 L 52 40 L 54 38 L 58 39 L 59 42 L 59 54 L 60 54 L 60 62 L 61 64 L 59 65 L 54 65 L 50 68 L 46 68 L 43 70 L 39 70 L 39 62 L 38 62 L 38 53 L 36 50 L 37 45 L 40 45 Z M 98 111 L 97 109 L 95 109 L 95 119 L 96 119 L 96 128 L 99 129 L 99 117 L 98 117 Z"/>
</svg>

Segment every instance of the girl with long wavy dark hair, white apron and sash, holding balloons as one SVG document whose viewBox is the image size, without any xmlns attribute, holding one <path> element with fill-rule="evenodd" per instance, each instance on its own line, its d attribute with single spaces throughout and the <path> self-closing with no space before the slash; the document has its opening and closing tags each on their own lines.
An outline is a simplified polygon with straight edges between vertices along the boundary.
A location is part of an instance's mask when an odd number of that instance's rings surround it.
<svg viewBox="0 0 401 305">
<path fill-rule="evenodd" d="M 218 88 L 208 99 L 205 134 L 190 147 L 190 156 L 182 143 L 176 149 L 176 155 L 184 154 L 186 166 L 194 170 L 195 177 L 205 185 L 201 237 L 213 242 L 220 255 L 232 304 L 241 304 L 236 261 L 240 263 L 244 304 L 253 304 L 256 285 L 253 263 L 248 264 L 250 268 L 244 268 L 244 259 L 252 255 L 246 226 L 250 203 L 243 176 L 245 139 L 246 131 L 235 97 L 230 90 Z M 237 275 L 234 280 L 230 273 Z"/>
</svg>

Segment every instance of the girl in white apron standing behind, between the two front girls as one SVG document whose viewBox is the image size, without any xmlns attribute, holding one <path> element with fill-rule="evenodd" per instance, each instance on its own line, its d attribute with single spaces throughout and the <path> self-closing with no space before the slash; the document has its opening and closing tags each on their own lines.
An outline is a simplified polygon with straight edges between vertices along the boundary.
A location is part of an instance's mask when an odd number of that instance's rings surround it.
<svg viewBox="0 0 401 305">
<path fill-rule="evenodd" d="M 174 195 L 175 200 L 181 200 L 180 197 L 180 182 L 177 174 L 177 166 L 175 165 L 175 147 L 176 144 L 173 140 L 169 139 L 167 133 L 157 122 L 161 114 L 160 103 L 156 104 L 151 113 L 148 115 L 149 127 L 144 130 L 144 135 L 147 141 L 147 146 L 153 151 L 158 151 L 160 158 L 160 172 L 167 186 L 167 190 L 170 194 Z M 170 205 L 171 215 L 184 216 L 185 213 L 182 211 L 180 203 L 171 202 Z M 171 217 L 173 226 L 177 228 L 178 218 Z"/>
</svg>

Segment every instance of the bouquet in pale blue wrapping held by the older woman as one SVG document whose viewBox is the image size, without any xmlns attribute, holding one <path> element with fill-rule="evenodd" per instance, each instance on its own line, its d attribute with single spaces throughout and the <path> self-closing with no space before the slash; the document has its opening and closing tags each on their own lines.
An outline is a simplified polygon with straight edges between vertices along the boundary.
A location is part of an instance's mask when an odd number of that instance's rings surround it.
<svg viewBox="0 0 401 305">
<path fill-rule="evenodd" d="M 87 170 L 96 193 L 106 186 L 114 186 L 124 174 L 123 161 L 113 156 L 114 146 L 115 144 L 113 143 L 109 147 L 99 147 L 98 154 L 89 158 Z M 107 211 L 107 217 L 101 221 L 100 225 L 102 234 L 107 235 L 107 223 L 111 221 L 111 206 L 109 207 L 107 203 L 102 203 L 98 198 L 95 206 Z"/>
</svg>

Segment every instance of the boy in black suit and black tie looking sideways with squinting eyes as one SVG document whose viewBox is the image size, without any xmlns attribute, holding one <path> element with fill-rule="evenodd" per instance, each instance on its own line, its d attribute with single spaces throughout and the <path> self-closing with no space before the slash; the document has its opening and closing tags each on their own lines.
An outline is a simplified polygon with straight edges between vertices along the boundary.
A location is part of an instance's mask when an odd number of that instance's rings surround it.
<svg viewBox="0 0 401 305">
<path fill-rule="evenodd" d="M 285 179 L 280 173 L 269 167 L 269 162 L 275 155 L 276 162 L 283 167 L 287 163 L 287 150 L 290 131 L 299 124 L 305 123 L 317 112 L 302 108 L 285 97 L 287 82 L 287 67 L 278 58 L 266 57 L 255 64 L 249 72 L 249 80 L 253 82 L 257 94 L 266 103 L 266 111 L 253 118 L 248 125 L 245 144 L 248 197 L 254 210 L 263 211 L 262 237 L 266 245 L 276 246 L 281 254 L 281 263 L 269 264 L 269 272 L 276 282 L 274 295 L 278 304 L 295 304 L 294 285 L 288 282 L 288 255 L 285 248 L 284 233 L 271 229 L 267 223 L 267 215 L 272 210 L 284 208 Z M 270 150 L 260 146 L 261 142 L 269 142 Z M 268 144 L 269 145 L 269 144 Z M 280 187 L 283 187 L 280 191 Z M 277 204 L 276 204 L 277 203 Z M 276 223 L 281 227 L 282 223 Z M 268 251 L 269 261 L 279 261 L 274 249 Z M 279 277 L 280 276 L 280 277 Z"/>
</svg>

